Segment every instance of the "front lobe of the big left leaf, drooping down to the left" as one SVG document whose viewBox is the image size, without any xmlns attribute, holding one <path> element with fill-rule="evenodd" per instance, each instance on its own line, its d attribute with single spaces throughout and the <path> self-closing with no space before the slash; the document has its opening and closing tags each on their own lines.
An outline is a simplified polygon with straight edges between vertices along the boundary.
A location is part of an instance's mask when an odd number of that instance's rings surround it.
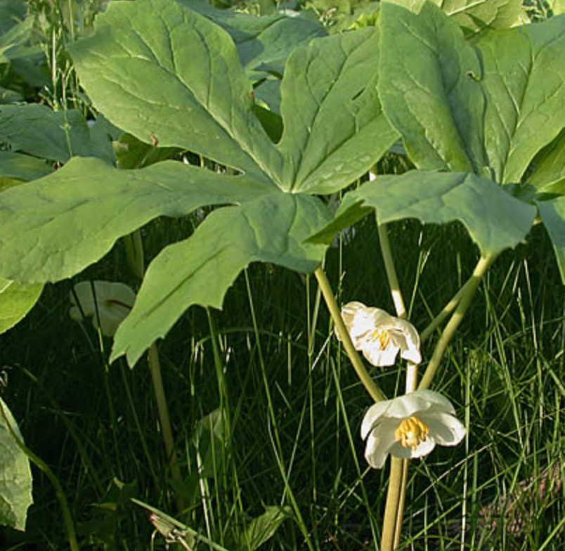
<svg viewBox="0 0 565 551">
<path fill-rule="evenodd" d="M 126 354 L 134 365 L 193 304 L 221 308 L 226 290 L 251 262 L 313 271 L 326 247 L 303 241 L 329 221 L 318 198 L 282 192 L 216 210 L 190 238 L 152 261 L 134 309 L 117 330 L 111 360 Z"/>
</svg>

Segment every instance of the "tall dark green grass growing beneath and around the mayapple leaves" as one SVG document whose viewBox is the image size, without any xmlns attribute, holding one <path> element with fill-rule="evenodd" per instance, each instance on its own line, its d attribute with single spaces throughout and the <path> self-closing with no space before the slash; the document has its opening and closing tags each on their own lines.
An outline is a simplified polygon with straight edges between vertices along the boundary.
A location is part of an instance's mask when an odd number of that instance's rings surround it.
<svg viewBox="0 0 565 551">
<path fill-rule="evenodd" d="M 84 13 L 95 4 L 83 2 Z M 77 4 L 32 5 L 46 14 L 46 52 L 56 60 L 41 98 L 86 108 L 64 49 L 79 32 L 64 6 Z M 84 15 L 85 32 L 88 21 Z M 150 224 L 148 260 L 190 227 Z M 471 273 L 476 249 L 460 226 L 413 222 L 391 226 L 391 242 L 410 319 L 423 329 Z M 119 243 L 76 279 L 133 285 L 124 251 Z M 326 268 L 340 302 L 392 311 L 372 219 L 351 243 L 330 250 Z M 3 397 L 27 446 L 63 486 L 82 549 L 164 549 L 129 498 L 177 514 L 178 494 L 186 507 L 178 519 L 228 549 L 266 505 L 288 506 L 294 517 L 266 550 L 378 548 L 388 471 L 368 469 L 363 459 L 359 427 L 370 400 L 333 337 L 313 278 L 251 266 L 222 311 L 190 309 L 160 342 L 182 488 L 170 484 L 146 359 L 134 370 L 122 359 L 106 363 L 110 342 L 68 316 L 72 283 L 46 287 L 30 315 L 2 335 L 0 357 L 8 373 Z M 468 438 L 412 463 L 401 548 L 562 548 L 564 488 L 550 485 L 541 499 L 540 485 L 547 469 L 564 465 L 564 312 L 550 242 L 534 228 L 526 244 L 495 262 L 443 359 L 434 388 L 455 403 Z M 424 361 L 437 338 L 425 344 Z M 403 385 L 402 373 L 372 373 L 389 396 Z M 217 408 L 225 422 L 221 438 L 210 441 L 205 431 L 199 436 L 199 422 Z M 203 464 L 207 476 L 199 477 Z M 521 481 L 532 489 L 521 491 Z M 37 469 L 34 502 L 25 533 L 0 529 L 1 549 L 68 548 L 58 498 Z M 517 519 L 524 526 L 512 533 Z"/>
</svg>

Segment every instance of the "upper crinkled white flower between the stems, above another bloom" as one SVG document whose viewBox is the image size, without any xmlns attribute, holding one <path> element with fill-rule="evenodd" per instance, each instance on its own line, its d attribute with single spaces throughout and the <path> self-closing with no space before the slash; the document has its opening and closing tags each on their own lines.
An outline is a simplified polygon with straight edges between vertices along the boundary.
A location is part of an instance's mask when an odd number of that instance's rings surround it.
<svg viewBox="0 0 565 551">
<path fill-rule="evenodd" d="M 363 351 L 372 365 L 393 365 L 398 351 L 412 363 L 422 361 L 420 335 L 410 322 L 361 302 L 348 302 L 343 306 L 342 318 L 353 346 Z M 339 338 L 337 330 L 336 335 Z"/>
</svg>

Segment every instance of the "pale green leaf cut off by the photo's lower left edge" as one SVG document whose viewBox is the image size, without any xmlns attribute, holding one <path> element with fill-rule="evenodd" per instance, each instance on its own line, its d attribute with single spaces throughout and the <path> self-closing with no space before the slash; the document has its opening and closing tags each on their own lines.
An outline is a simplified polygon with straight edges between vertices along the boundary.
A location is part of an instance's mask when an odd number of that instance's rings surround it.
<svg viewBox="0 0 565 551">
<path fill-rule="evenodd" d="M 30 461 L 14 440 L 12 432 L 20 441 L 22 435 L 2 398 L 0 409 L 0 525 L 24 530 L 33 503 Z"/>
</svg>

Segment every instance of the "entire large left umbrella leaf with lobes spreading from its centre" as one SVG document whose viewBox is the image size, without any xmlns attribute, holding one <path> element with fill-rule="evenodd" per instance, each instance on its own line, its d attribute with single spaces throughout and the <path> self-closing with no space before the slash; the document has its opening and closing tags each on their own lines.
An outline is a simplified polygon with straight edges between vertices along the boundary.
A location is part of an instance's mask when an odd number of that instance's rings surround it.
<svg viewBox="0 0 565 551">
<path fill-rule="evenodd" d="M 141 141 L 187 148 L 243 174 L 178 162 L 119 171 L 72 160 L 0 194 L 0 223 L 10 230 L 0 236 L 0 273 L 24 282 L 65 278 L 155 216 L 235 205 L 148 268 L 112 356 L 126 353 L 134 363 L 190 305 L 221 306 L 250 262 L 313 271 L 326 247 L 304 240 L 330 216 L 306 193 L 349 185 L 398 136 L 379 108 L 377 33 L 317 39 L 294 51 L 283 79 L 286 134 L 275 145 L 254 114 L 251 84 L 226 32 L 171 1 L 110 4 L 94 36 L 73 48 L 94 105 Z"/>
</svg>

